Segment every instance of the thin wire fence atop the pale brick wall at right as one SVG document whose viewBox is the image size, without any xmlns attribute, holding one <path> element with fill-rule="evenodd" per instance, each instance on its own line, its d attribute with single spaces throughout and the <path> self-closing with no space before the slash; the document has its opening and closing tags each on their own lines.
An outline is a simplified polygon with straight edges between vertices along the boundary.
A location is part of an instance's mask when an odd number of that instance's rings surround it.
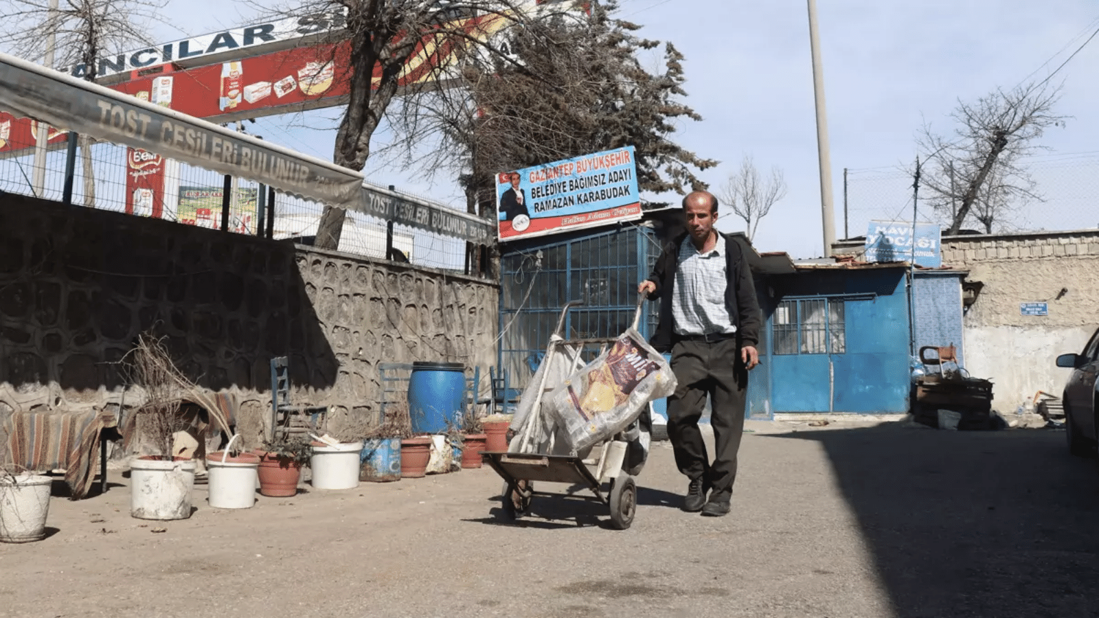
<svg viewBox="0 0 1099 618">
<path fill-rule="evenodd" d="M 1041 199 L 1003 205 L 993 233 L 1099 227 L 1099 153 L 1034 157 L 1025 167 Z M 913 216 L 917 222 L 948 225 L 948 213 L 931 207 L 923 186 L 913 211 L 912 185 L 911 170 L 900 166 L 844 169 L 843 201 L 836 209 L 839 235 L 862 236 L 870 221 L 912 221 Z M 963 228 L 986 232 L 973 217 Z"/>
</svg>

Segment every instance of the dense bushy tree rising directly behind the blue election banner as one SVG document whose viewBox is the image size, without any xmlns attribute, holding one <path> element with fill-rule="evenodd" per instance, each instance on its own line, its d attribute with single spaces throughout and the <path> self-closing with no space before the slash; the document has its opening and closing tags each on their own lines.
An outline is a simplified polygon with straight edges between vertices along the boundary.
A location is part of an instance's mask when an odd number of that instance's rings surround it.
<svg viewBox="0 0 1099 618">
<path fill-rule="evenodd" d="M 470 212 L 495 212 L 495 174 L 623 145 L 635 147 L 643 191 L 704 188 L 693 169 L 717 162 L 671 140 L 681 119 L 700 117 L 681 102 L 682 55 L 664 46 L 663 69 L 647 70 L 641 55 L 660 43 L 614 18 L 614 2 L 590 14 L 550 15 L 521 24 L 501 45 L 510 52 L 471 62 L 464 88 L 408 98 L 393 123 L 406 139 L 386 148 L 406 168 L 458 175 Z M 532 30 L 537 34 L 532 36 Z M 417 151 L 434 137 L 437 145 Z"/>
</svg>

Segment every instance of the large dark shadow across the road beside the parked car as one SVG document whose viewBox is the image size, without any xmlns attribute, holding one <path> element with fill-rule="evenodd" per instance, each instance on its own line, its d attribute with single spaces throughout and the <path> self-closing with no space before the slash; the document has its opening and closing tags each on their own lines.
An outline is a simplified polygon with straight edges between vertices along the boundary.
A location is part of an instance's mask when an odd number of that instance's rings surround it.
<svg viewBox="0 0 1099 618">
<path fill-rule="evenodd" d="M 1059 431 L 802 431 L 898 616 L 1099 616 L 1099 473 Z"/>
</svg>

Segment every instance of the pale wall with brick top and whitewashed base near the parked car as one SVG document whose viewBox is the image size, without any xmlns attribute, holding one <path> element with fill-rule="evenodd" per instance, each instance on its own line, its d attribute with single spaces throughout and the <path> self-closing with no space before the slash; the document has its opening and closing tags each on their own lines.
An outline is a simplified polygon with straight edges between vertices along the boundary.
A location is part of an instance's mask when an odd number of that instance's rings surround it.
<svg viewBox="0 0 1099 618">
<path fill-rule="evenodd" d="M 943 265 L 983 284 L 963 320 L 965 366 L 992 379 L 993 407 L 1014 412 L 1039 390 L 1059 397 L 1070 369 L 1054 360 L 1099 327 L 1099 230 L 946 236 L 942 247 Z M 1048 304 L 1048 316 L 1023 316 L 1023 302 Z"/>
</svg>

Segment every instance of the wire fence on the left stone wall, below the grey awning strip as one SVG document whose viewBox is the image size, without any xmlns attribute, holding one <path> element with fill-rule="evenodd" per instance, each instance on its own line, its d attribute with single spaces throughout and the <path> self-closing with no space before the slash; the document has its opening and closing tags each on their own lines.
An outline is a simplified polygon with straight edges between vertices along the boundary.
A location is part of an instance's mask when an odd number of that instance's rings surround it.
<svg viewBox="0 0 1099 618">
<path fill-rule="evenodd" d="M 64 201 L 69 194 L 76 206 L 220 230 L 227 188 L 226 230 L 266 235 L 269 225 L 273 239 L 295 239 L 302 244 L 312 244 L 317 235 L 323 203 L 268 191 L 251 180 L 226 179 L 217 172 L 141 150 L 87 140 L 77 140 L 78 145 L 69 148 L 67 133 L 51 129 L 49 146 L 36 165 L 36 124 L 29 130 L 30 124 L 25 119 L 0 113 L 0 191 L 55 201 Z M 70 186 L 66 190 L 66 170 L 70 167 Z M 154 184 L 163 191 L 149 189 Z M 267 203 L 271 197 L 273 209 Z M 271 212 L 274 222 L 269 224 Z M 467 243 L 460 238 L 392 224 L 355 211 L 347 212 L 338 250 L 432 268 L 467 273 L 476 269 L 467 261 Z"/>
</svg>

